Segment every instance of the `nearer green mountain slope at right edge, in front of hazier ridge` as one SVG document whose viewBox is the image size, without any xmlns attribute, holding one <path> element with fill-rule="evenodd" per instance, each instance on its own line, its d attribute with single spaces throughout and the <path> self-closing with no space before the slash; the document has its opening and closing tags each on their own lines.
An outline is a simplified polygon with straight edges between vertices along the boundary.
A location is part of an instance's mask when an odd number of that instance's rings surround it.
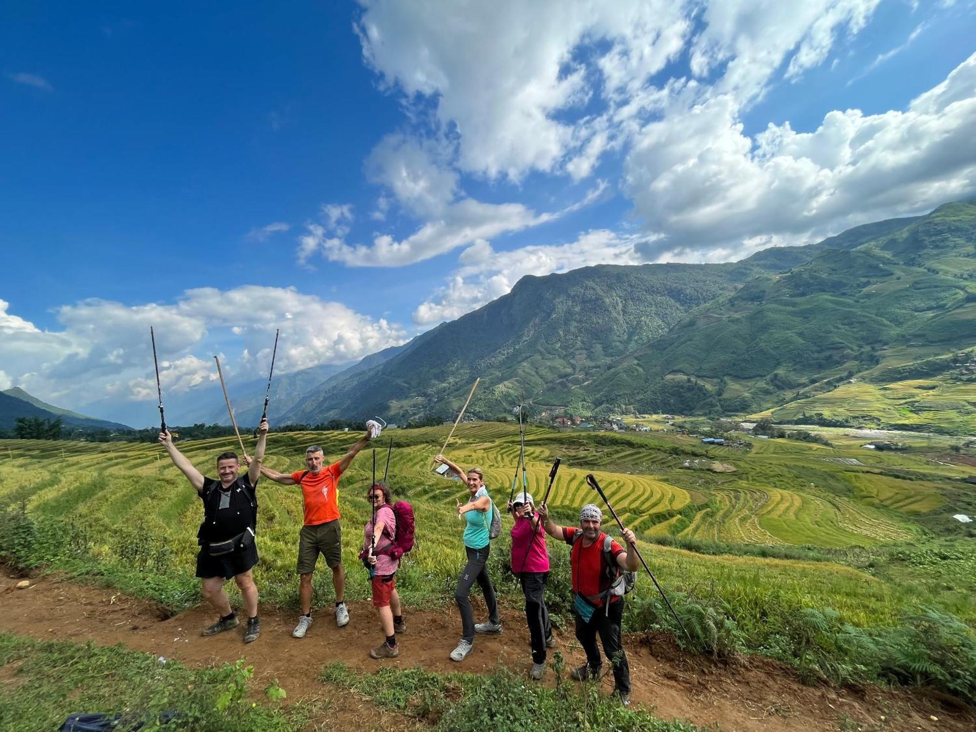
<svg viewBox="0 0 976 732">
<path fill-rule="evenodd" d="M 824 417 L 817 399 L 830 401 L 820 395 L 846 380 L 883 386 L 885 369 L 976 344 L 974 242 L 976 204 L 970 201 L 942 206 L 854 249 L 826 249 L 684 319 L 594 380 L 590 398 L 638 411 L 715 414 L 793 403 L 772 416 Z M 962 371 L 952 378 L 958 387 L 949 394 L 927 386 L 930 400 L 955 404 L 963 419 L 954 428 L 976 428 L 976 384 Z M 890 412 L 890 405 L 874 402 L 875 411 Z M 916 416 L 947 411 L 930 409 L 924 398 L 913 406 Z M 872 416 L 871 403 L 859 410 L 865 419 L 847 415 L 844 421 L 945 428 L 934 415 L 913 419 L 903 410 L 902 419 L 892 420 L 891 414 Z"/>
</svg>

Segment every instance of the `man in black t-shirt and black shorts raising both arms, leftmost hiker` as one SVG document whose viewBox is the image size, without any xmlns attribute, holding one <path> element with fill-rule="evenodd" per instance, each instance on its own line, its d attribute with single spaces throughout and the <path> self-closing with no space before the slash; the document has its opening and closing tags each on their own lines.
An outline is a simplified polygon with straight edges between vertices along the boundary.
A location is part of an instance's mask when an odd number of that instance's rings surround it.
<svg viewBox="0 0 976 732">
<path fill-rule="evenodd" d="M 173 444 L 169 430 L 159 433 L 159 441 L 169 453 L 173 465 L 183 471 L 203 502 L 203 523 L 197 532 L 200 552 L 196 557 L 196 576 L 200 578 L 200 591 L 204 598 L 221 614 L 220 620 L 203 630 L 203 634 L 214 635 L 237 627 L 237 616 L 224 591 L 224 582 L 233 577 L 241 590 L 247 612 L 245 643 L 256 640 L 261 634 L 258 588 L 254 584 L 251 568 L 258 563 L 258 548 L 254 542 L 258 518 L 255 487 L 264 459 L 267 420 L 262 420 L 258 432 L 258 444 L 248 471 L 238 477 L 240 463 L 237 454 L 221 453 L 217 457 L 217 473 L 220 476 L 217 479 L 206 478 L 193 467 Z"/>
</svg>

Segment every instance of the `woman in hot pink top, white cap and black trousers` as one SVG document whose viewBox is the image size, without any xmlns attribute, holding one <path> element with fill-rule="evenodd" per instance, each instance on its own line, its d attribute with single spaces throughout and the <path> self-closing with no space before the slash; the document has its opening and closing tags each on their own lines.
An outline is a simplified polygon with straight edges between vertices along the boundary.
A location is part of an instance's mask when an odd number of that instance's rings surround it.
<svg viewBox="0 0 976 732">
<path fill-rule="evenodd" d="M 545 598 L 549 579 L 546 532 L 539 526 L 539 514 L 528 493 L 515 496 L 508 509 L 515 518 L 511 527 L 511 571 L 518 576 L 525 594 L 525 619 L 532 641 L 529 675 L 538 680 L 546 673 L 546 649 L 555 645 Z"/>
</svg>

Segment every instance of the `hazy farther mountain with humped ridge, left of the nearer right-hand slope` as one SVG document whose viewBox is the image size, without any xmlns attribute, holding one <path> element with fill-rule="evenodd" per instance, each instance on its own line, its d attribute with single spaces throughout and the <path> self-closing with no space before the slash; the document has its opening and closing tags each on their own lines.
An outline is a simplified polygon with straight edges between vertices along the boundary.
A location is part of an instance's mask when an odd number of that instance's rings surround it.
<svg viewBox="0 0 976 732">
<path fill-rule="evenodd" d="M 685 313 L 780 266 L 775 258 L 600 265 L 523 277 L 505 297 L 441 324 L 385 363 L 307 395 L 286 419 L 446 417 L 476 376 L 481 386 L 468 407 L 473 415 L 506 413 L 522 394 L 558 400 L 660 338 Z"/>
</svg>

